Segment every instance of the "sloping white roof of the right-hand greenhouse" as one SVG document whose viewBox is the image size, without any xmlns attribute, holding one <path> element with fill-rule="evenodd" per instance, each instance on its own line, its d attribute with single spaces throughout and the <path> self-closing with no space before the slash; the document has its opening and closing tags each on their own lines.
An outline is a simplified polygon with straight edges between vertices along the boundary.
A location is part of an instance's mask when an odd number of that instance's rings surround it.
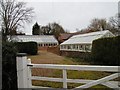
<svg viewBox="0 0 120 90">
<path fill-rule="evenodd" d="M 97 32 L 91 32 L 86 34 L 79 34 L 74 35 L 65 42 L 61 43 L 61 45 L 65 44 L 92 44 L 93 40 L 102 38 L 107 33 L 110 33 L 113 35 L 109 30 L 104 31 L 97 31 Z"/>
</svg>

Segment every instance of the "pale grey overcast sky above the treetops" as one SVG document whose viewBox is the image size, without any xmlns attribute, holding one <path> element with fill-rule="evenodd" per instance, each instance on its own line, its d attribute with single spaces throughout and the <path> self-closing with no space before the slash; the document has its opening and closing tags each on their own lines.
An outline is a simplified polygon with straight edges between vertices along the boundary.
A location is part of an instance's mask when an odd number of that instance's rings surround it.
<svg viewBox="0 0 120 90">
<path fill-rule="evenodd" d="M 35 16 L 25 25 L 26 34 L 32 34 L 35 22 L 39 25 L 57 22 L 65 30 L 75 32 L 86 28 L 93 18 L 108 20 L 118 13 L 118 2 L 27 2 L 27 5 L 34 8 Z"/>
</svg>

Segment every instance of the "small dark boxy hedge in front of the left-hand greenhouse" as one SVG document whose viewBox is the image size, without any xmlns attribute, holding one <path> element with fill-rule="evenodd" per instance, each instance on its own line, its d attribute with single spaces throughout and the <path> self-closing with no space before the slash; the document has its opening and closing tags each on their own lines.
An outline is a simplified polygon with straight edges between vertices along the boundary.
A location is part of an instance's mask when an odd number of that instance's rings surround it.
<svg viewBox="0 0 120 90">
<path fill-rule="evenodd" d="M 27 53 L 28 55 L 36 55 L 38 51 L 36 42 L 17 42 L 16 47 L 19 53 Z"/>
</svg>

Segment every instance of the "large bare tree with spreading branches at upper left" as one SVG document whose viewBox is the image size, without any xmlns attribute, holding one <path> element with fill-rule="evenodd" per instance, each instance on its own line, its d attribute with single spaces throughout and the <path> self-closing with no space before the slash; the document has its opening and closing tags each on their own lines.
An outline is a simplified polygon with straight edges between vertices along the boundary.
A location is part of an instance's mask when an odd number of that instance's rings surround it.
<svg viewBox="0 0 120 90">
<path fill-rule="evenodd" d="M 26 7 L 25 2 L 15 0 L 0 0 L 0 21 L 2 33 L 13 35 L 25 22 L 30 22 L 33 17 L 33 8 Z"/>
</svg>

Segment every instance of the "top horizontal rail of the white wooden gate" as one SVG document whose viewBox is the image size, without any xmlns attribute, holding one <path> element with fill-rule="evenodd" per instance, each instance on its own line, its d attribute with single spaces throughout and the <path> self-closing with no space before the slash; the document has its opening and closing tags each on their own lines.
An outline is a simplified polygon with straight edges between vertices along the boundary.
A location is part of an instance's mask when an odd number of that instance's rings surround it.
<svg viewBox="0 0 120 90">
<path fill-rule="evenodd" d="M 93 65 L 58 65 L 58 64 L 27 64 L 32 68 L 84 70 L 84 71 L 107 71 L 118 72 L 118 66 L 93 66 Z"/>
</svg>

